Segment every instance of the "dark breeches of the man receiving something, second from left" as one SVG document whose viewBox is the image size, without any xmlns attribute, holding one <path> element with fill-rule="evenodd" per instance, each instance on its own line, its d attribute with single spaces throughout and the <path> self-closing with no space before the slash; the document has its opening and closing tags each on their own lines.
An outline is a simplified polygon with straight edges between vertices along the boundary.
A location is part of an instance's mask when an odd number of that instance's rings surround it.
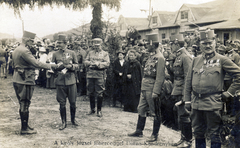
<svg viewBox="0 0 240 148">
<path fill-rule="evenodd" d="M 70 106 L 76 108 L 77 86 L 73 85 L 57 85 L 57 101 L 60 108 L 66 106 L 66 98 L 68 98 Z"/>
</svg>

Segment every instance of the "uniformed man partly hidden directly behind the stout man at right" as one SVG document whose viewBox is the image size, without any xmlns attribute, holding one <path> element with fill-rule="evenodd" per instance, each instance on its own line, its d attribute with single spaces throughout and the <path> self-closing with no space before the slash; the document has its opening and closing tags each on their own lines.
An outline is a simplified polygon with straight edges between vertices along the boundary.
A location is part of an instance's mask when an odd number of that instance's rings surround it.
<svg viewBox="0 0 240 148">
<path fill-rule="evenodd" d="M 177 117 L 175 117 L 175 123 L 181 130 L 181 139 L 177 143 L 174 143 L 173 146 L 181 145 L 181 147 L 190 147 L 192 139 L 190 113 L 185 109 L 184 104 L 182 104 L 181 102 L 183 100 L 184 83 L 187 76 L 188 68 L 192 61 L 192 57 L 184 47 L 183 35 L 179 34 L 176 37 L 178 40 L 178 49 L 176 50 L 176 59 L 172 68 L 174 74 L 174 83 L 171 95 L 172 99 L 174 99 L 176 103 L 174 107 L 174 110 L 176 110 L 177 112 Z"/>
</svg>

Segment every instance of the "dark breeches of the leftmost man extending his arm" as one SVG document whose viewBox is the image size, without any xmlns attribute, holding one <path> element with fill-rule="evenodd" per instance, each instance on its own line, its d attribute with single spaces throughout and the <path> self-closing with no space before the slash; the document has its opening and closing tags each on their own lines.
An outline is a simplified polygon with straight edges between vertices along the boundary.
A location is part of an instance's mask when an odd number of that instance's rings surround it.
<svg viewBox="0 0 240 148">
<path fill-rule="evenodd" d="M 18 102 L 20 105 L 20 111 L 28 112 L 28 108 L 30 106 L 31 98 L 32 98 L 33 91 L 34 91 L 34 86 L 13 83 L 13 87 L 14 87 L 15 93 L 18 98 Z"/>
</svg>

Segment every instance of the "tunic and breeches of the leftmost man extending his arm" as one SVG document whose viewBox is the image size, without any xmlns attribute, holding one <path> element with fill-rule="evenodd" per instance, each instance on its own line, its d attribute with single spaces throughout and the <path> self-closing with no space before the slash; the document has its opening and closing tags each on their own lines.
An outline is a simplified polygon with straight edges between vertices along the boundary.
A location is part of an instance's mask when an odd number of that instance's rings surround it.
<svg viewBox="0 0 240 148">
<path fill-rule="evenodd" d="M 50 64 L 41 63 L 35 59 L 24 44 L 13 52 L 13 86 L 20 104 L 20 110 L 26 111 L 30 105 L 35 85 L 35 68 L 51 69 Z M 28 109 L 27 109 L 28 111 Z"/>
</svg>

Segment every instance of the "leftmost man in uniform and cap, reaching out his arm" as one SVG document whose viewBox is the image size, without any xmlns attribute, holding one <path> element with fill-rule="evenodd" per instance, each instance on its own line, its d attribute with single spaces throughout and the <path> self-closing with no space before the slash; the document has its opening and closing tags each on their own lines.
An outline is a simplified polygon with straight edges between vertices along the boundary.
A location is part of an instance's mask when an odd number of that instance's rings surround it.
<svg viewBox="0 0 240 148">
<path fill-rule="evenodd" d="M 35 68 L 51 69 L 56 64 L 41 63 L 32 55 L 30 48 L 34 42 L 34 33 L 24 31 L 22 43 L 13 52 L 13 87 L 16 92 L 20 109 L 21 131 L 20 134 L 36 134 L 37 131 L 29 127 L 29 106 L 35 85 Z"/>
</svg>

